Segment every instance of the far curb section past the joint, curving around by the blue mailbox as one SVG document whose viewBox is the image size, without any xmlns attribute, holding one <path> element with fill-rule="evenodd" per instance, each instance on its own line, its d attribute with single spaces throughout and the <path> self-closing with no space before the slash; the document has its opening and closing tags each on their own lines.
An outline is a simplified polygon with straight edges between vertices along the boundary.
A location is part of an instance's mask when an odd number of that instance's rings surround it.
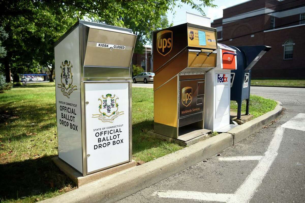
<svg viewBox="0 0 305 203">
<path fill-rule="evenodd" d="M 277 101 L 278 102 L 278 101 Z M 234 144 L 246 139 L 256 131 L 260 130 L 262 127 L 278 118 L 281 115 L 283 105 L 281 102 L 278 102 L 278 105 L 275 106 L 274 110 L 265 113 L 255 119 L 252 119 L 240 126 L 229 130 L 227 133 L 233 136 Z"/>
</svg>

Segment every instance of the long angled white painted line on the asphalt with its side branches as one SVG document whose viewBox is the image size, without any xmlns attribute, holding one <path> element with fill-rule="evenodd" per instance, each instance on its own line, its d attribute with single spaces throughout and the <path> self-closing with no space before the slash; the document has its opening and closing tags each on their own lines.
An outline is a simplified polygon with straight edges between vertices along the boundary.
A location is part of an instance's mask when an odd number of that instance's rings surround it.
<svg viewBox="0 0 305 203">
<path fill-rule="evenodd" d="M 275 157 L 278 155 L 285 128 L 278 127 L 274 132 L 270 145 L 268 146 L 265 155 L 261 157 L 257 166 L 249 174 L 242 185 L 235 191 L 234 194 L 217 194 L 195 191 L 156 191 L 152 195 L 160 198 L 176 198 L 176 199 L 192 199 L 199 201 L 221 201 L 221 202 L 249 202 L 253 197 L 260 183 L 267 174 Z M 244 156 L 251 157 L 251 156 Z M 255 156 L 260 157 L 260 156 Z M 227 157 L 229 158 L 229 157 Z M 234 157 L 233 157 L 234 158 Z M 239 157 L 240 158 L 240 157 Z M 257 159 L 255 159 L 257 160 Z"/>
</svg>

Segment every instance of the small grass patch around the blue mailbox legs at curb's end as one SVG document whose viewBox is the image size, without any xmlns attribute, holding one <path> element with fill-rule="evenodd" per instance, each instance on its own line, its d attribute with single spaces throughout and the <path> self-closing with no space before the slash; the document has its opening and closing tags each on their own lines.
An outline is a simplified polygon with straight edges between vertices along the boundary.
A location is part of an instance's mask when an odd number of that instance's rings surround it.
<svg viewBox="0 0 305 203">
<path fill-rule="evenodd" d="M 266 99 L 257 95 L 250 95 L 249 101 L 249 113 L 253 115 L 253 118 L 263 115 L 275 108 L 277 103 L 272 99 Z M 230 110 L 237 112 L 237 103 L 231 101 Z M 242 101 L 242 114 L 246 113 L 246 100 Z"/>
</svg>

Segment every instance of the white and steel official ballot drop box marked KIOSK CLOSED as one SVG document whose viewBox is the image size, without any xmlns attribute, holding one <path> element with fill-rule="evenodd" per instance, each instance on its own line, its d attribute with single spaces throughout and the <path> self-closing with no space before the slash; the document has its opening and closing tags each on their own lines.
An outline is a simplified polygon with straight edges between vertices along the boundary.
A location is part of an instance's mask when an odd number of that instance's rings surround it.
<svg viewBox="0 0 305 203">
<path fill-rule="evenodd" d="M 58 157 L 90 173 L 132 161 L 130 29 L 79 20 L 55 44 Z"/>
</svg>

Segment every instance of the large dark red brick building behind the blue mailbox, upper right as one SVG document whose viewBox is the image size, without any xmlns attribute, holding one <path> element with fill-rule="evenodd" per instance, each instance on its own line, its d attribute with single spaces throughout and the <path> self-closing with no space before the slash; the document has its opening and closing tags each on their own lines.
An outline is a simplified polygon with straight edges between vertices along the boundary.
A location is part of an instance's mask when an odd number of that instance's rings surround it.
<svg viewBox="0 0 305 203">
<path fill-rule="evenodd" d="M 305 78 L 305 1 L 251 0 L 223 10 L 211 23 L 225 45 L 267 45 L 253 78 Z"/>
</svg>

